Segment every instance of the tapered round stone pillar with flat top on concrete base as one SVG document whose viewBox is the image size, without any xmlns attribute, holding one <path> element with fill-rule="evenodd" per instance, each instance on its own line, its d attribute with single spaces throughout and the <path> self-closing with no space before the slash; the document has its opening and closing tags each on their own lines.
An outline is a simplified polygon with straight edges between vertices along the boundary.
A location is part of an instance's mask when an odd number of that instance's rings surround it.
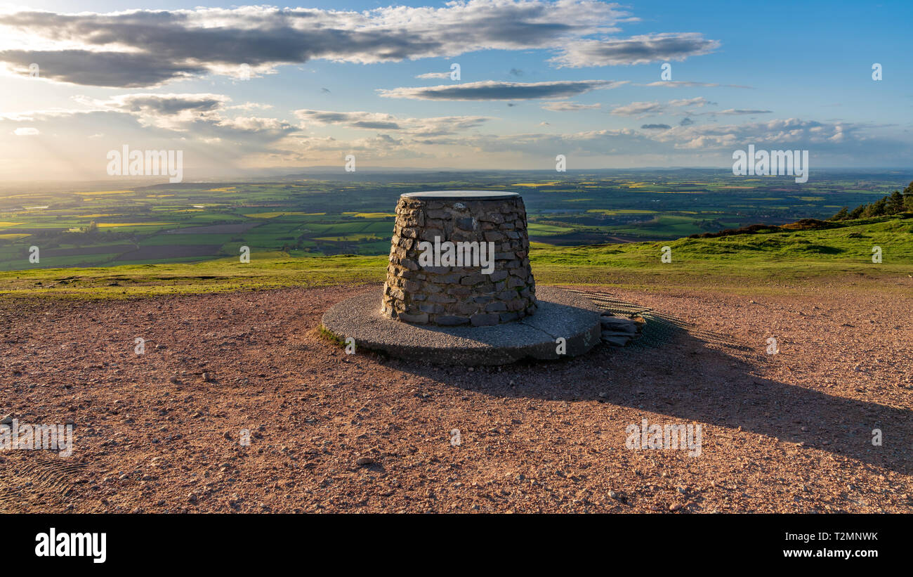
<svg viewBox="0 0 913 577">
<path fill-rule="evenodd" d="M 485 248 L 494 249 L 489 255 L 494 268 L 486 274 L 484 267 L 472 262 L 460 267 L 428 266 L 431 255 L 423 257 L 422 241 L 431 247 L 446 242 L 485 243 Z M 496 325 L 531 315 L 536 311 L 536 285 L 529 252 L 526 207 L 519 194 L 403 194 L 396 205 L 383 314 L 438 326 Z"/>
</svg>

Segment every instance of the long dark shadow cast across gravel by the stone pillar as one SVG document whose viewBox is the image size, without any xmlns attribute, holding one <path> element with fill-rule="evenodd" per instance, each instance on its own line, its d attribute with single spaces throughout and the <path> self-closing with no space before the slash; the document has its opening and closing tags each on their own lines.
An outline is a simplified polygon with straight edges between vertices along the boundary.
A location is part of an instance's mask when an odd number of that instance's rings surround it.
<svg viewBox="0 0 913 577">
<path fill-rule="evenodd" d="M 495 398 L 614 404 L 663 414 L 681 424 L 741 427 L 905 475 L 913 473 L 908 447 L 913 412 L 754 374 L 771 362 L 779 361 L 719 347 L 683 330 L 661 346 L 600 345 L 582 357 L 561 362 L 518 362 L 471 372 L 466 367 L 394 360 L 384 364 Z M 883 433 L 883 446 L 872 445 L 876 428 Z"/>
</svg>

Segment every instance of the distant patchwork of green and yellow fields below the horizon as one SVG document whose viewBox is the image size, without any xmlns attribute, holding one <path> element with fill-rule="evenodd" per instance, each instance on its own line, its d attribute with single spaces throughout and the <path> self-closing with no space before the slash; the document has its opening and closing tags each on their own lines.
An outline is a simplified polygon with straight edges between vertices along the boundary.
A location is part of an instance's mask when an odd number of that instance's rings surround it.
<svg viewBox="0 0 913 577">
<path fill-rule="evenodd" d="M 334 177 L 336 178 L 336 177 Z M 827 218 L 903 188 L 902 173 L 746 178 L 726 171 L 420 173 L 289 176 L 271 182 L 64 187 L 0 192 L 0 270 L 111 267 L 236 258 L 241 247 L 291 259 L 389 251 L 399 194 L 440 189 L 523 195 L 533 247 L 682 236 Z M 37 263 L 29 261 L 38 247 Z"/>
</svg>

